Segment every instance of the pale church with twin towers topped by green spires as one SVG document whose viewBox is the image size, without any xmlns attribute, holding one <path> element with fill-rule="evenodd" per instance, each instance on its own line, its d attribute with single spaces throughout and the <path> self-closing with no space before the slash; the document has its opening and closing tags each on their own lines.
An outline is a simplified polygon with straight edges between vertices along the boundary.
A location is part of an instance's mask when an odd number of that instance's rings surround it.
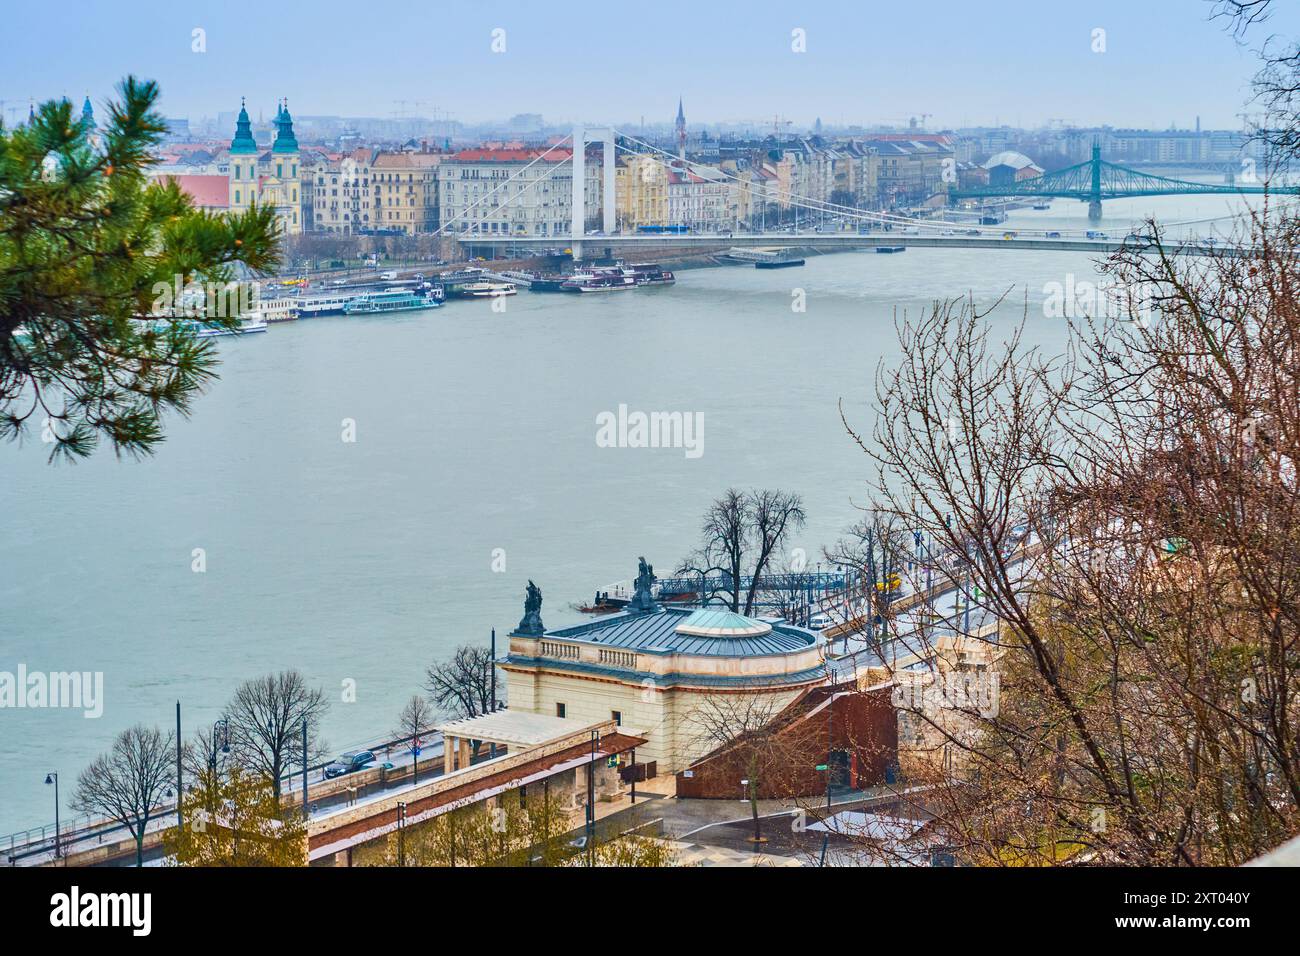
<svg viewBox="0 0 1300 956">
<path fill-rule="evenodd" d="M 254 203 L 274 206 L 281 234 L 303 232 L 299 160 L 294 121 L 286 104 L 276 109 L 276 140 L 269 151 L 259 153 L 248 111 L 240 103 L 235 138 L 230 140 L 230 212 L 244 212 Z"/>
</svg>

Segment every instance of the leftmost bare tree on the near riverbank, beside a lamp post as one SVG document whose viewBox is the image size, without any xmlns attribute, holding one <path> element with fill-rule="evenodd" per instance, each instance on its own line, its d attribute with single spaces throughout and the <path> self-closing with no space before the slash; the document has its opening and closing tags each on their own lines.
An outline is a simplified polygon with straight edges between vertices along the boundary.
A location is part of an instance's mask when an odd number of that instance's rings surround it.
<svg viewBox="0 0 1300 956">
<path fill-rule="evenodd" d="M 144 865 L 144 832 L 168 790 L 178 782 L 176 736 L 138 723 L 113 740 L 77 779 L 72 805 L 118 821 L 135 838 L 135 865 Z M 172 791 L 173 793 L 176 791 Z"/>
</svg>

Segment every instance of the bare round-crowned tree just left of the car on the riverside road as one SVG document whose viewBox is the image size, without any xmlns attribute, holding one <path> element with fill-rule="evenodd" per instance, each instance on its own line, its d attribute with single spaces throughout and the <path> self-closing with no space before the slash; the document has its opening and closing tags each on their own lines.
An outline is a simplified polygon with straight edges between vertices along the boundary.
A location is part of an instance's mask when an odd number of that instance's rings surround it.
<svg viewBox="0 0 1300 956">
<path fill-rule="evenodd" d="M 329 706 L 320 688 L 307 685 L 296 670 L 246 680 L 226 705 L 234 760 L 270 780 L 280 799 L 282 778 L 325 753 L 320 721 Z M 307 753 L 303 753 L 303 724 Z"/>
</svg>

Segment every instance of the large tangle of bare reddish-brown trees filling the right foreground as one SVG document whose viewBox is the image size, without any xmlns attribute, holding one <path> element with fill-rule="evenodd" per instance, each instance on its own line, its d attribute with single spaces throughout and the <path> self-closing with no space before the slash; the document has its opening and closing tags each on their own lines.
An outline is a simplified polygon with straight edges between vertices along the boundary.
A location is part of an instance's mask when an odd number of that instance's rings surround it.
<svg viewBox="0 0 1300 956">
<path fill-rule="evenodd" d="M 1148 229 L 1105 265 L 1144 307 L 1065 355 L 944 302 L 878 380 L 872 506 L 996 624 L 996 713 L 913 714 L 961 754 L 930 783 L 968 861 L 1239 864 L 1300 829 L 1300 224 L 1196 259 Z"/>
</svg>

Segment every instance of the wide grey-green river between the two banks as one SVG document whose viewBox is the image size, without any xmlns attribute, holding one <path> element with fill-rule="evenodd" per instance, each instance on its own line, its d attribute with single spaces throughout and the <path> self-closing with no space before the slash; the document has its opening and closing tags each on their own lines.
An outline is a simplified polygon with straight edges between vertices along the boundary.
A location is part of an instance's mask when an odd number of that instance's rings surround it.
<svg viewBox="0 0 1300 956">
<path fill-rule="evenodd" d="M 1112 202 L 1101 228 L 1228 202 Z M 1058 200 L 1013 213 L 1017 226 L 1080 229 L 1084 209 Z M 105 449 L 48 466 L 39 434 L 0 447 L 0 671 L 104 675 L 98 719 L 0 710 L 0 834 L 52 821 L 48 771 L 72 817 L 77 774 L 124 727 L 168 728 L 181 700 L 188 736 L 240 680 L 285 667 L 333 700 L 330 748 L 372 741 L 432 661 L 517 623 L 529 579 L 546 623 L 572 622 L 638 555 L 671 572 L 731 485 L 801 493 L 809 524 L 792 545 L 815 563 L 864 501 L 868 463 L 837 403 L 870 431 L 896 311 L 1010 289 L 994 330 L 1028 294 L 1027 342 L 1057 350 L 1063 321 L 1041 303 L 1069 274 L 1093 278 L 1089 258 L 913 248 L 686 271 L 619 295 L 523 293 L 504 312 L 462 300 L 289 323 L 222 341 L 221 380 L 148 460 Z M 597 416 L 620 405 L 701 414 L 702 454 L 598 446 Z"/>
</svg>

